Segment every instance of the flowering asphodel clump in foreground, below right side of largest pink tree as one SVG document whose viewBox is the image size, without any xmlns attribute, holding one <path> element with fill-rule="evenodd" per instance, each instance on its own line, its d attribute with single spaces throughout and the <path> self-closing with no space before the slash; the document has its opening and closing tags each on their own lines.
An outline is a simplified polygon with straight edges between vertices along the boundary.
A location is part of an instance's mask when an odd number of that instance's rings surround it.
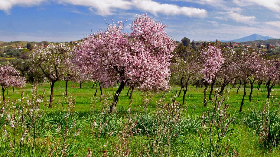
<svg viewBox="0 0 280 157">
<path fill-rule="evenodd" d="M 176 97 L 165 102 L 163 95 L 156 102 L 154 112 L 148 111 L 149 101 L 143 99 L 144 113 L 137 115 L 137 129 L 145 135 L 147 142 L 138 146 L 140 156 L 171 156 L 176 153 L 173 146 L 184 142 L 188 135 L 186 125 L 182 125 L 186 108 L 176 101 Z"/>
</svg>

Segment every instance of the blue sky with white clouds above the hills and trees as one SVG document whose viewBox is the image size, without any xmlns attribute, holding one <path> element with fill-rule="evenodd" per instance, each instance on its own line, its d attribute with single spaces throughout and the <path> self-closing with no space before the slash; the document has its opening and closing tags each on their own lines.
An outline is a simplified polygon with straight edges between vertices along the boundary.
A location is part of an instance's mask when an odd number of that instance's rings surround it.
<svg viewBox="0 0 280 157">
<path fill-rule="evenodd" d="M 74 41 L 147 13 L 175 40 L 280 38 L 280 0 L 0 0 L 0 41 Z"/>
</svg>

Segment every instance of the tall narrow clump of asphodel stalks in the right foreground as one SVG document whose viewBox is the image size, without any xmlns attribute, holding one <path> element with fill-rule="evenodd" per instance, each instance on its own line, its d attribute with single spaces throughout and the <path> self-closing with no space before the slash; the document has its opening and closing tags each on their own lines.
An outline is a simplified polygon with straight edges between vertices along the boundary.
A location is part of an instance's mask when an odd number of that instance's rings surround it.
<svg viewBox="0 0 280 157">
<path fill-rule="evenodd" d="M 197 129 L 200 141 L 198 148 L 189 156 L 238 156 L 230 143 L 234 129 L 229 125 L 234 118 L 228 112 L 229 105 L 225 102 L 227 96 L 217 91 L 214 94 L 212 107 L 201 116 L 201 130 Z"/>
</svg>

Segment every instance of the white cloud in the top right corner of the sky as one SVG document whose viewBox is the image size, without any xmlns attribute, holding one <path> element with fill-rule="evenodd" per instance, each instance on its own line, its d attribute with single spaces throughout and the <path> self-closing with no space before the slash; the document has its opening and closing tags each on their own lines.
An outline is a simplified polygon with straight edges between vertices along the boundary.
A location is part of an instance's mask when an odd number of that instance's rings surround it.
<svg viewBox="0 0 280 157">
<path fill-rule="evenodd" d="M 239 6 L 259 5 L 280 13 L 279 0 L 234 0 Z"/>
</svg>

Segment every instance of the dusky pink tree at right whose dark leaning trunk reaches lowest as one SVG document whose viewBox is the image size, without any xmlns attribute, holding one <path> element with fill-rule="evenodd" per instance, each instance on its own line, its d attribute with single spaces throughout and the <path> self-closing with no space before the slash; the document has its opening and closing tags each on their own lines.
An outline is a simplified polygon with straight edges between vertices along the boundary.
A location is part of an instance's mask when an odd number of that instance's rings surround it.
<svg viewBox="0 0 280 157">
<path fill-rule="evenodd" d="M 239 60 L 237 60 L 237 66 L 240 71 L 240 77 L 243 80 L 244 84 L 244 94 L 241 101 L 239 112 L 242 111 L 244 98 L 246 96 L 246 84 L 250 82 L 250 97 L 249 100 L 251 101 L 251 95 L 253 92 L 253 84 L 256 79 L 264 75 L 264 54 L 261 51 L 253 51 L 253 52 L 246 52 L 243 51 L 239 56 Z"/>
</svg>

